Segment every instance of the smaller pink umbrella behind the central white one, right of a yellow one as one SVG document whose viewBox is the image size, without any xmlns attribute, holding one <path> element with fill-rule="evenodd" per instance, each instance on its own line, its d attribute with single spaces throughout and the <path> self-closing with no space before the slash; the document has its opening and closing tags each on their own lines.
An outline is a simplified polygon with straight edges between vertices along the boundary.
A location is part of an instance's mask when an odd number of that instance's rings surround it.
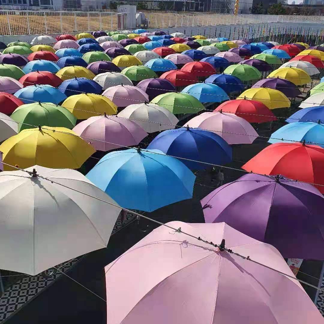
<svg viewBox="0 0 324 324">
<path fill-rule="evenodd" d="M 118 85 L 110 87 L 102 95 L 109 98 L 117 107 L 149 101 L 148 95 L 142 89 L 134 86 Z"/>
</svg>

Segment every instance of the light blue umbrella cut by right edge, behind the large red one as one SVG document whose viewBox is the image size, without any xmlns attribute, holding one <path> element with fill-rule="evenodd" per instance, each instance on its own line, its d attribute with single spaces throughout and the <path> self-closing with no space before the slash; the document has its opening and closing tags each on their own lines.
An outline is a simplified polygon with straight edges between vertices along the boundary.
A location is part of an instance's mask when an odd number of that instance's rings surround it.
<svg viewBox="0 0 324 324">
<path fill-rule="evenodd" d="M 268 143 L 292 143 L 305 141 L 324 148 L 324 126 L 319 122 L 292 122 L 271 134 Z"/>
</svg>

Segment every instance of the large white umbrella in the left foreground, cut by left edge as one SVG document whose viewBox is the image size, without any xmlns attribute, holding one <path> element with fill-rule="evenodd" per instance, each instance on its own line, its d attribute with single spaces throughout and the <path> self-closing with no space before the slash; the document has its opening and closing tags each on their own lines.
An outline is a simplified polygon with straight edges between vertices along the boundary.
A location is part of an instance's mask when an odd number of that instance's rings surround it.
<svg viewBox="0 0 324 324">
<path fill-rule="evenodd" d="M 121 208 L 103 201 L 117 203 L 76 170 L 33 169 L 0 173 L 1 269 L 36 275 L 105 248 Z"/>
</svg>

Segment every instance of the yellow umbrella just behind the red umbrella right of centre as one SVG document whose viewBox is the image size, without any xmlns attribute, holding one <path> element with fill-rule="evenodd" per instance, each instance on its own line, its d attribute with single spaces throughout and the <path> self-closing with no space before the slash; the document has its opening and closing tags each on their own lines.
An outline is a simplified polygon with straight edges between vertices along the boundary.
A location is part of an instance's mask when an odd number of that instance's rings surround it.
<svg viewBox="0 0 324 324">
<path fill-rule="evenodd" d="M 256 100 L 269 109 L 290 107 L 290 100 L 281 91 L 270 88 L 250 88 L 242 92 L 237 99 Z"/>
</svg>

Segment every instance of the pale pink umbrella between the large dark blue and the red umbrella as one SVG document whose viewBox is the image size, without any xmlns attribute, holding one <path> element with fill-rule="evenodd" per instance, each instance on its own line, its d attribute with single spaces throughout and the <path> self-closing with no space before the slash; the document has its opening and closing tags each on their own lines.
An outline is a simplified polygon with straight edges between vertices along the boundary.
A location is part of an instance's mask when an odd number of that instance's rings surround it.
<svg viewBox="0 0 324 324">
<path fill-rule="evenodd" d="M 259 136 L 245 119 L 222 111 L 204 112 L 186 123 L 192 128 L 211 131 L 228 144 L 251 144 Z"/>
</svg>

